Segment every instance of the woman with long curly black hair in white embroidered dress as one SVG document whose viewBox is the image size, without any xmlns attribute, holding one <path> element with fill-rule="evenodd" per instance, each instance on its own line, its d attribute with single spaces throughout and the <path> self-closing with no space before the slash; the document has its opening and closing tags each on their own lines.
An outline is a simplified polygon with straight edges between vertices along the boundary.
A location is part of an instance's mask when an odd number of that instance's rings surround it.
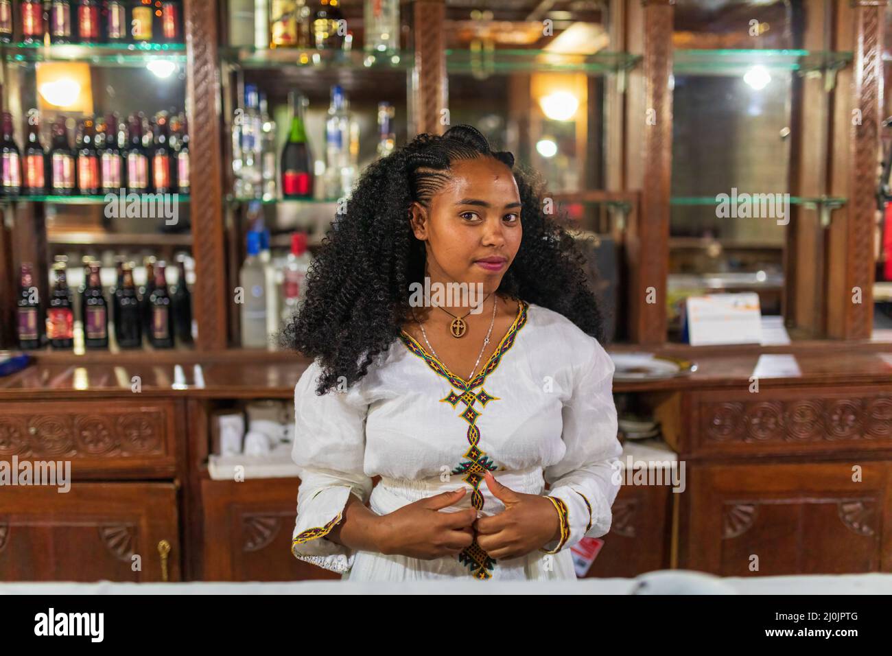
<svg viewBox="0 0 892 656">
<path fill-rule="evenodd" d="M 294 390 L 301 561 L 574 578 L 569 547 L 609 530 L 614 365 L 573 238 L 513 166 L 474 128 L 420 135 L 336 217 L 286 329 L 313 359 Z M 437 301 L 450 283 L 482 295 Z"/>
</svg>

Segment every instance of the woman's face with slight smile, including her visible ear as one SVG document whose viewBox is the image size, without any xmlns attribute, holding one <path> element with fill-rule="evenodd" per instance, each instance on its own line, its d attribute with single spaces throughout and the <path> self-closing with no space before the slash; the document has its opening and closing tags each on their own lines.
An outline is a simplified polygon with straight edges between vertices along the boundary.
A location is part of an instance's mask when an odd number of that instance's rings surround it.
<svg viewBox="0 0 892 656">
<path fill-rule="evenodd" d="M 432 281 L 499 287 L 523 236 L 520 194 L 511 170 L 492 157 L 453 162 L 452 179 L 429 207 L 412 205 L 415 236 L 426 242 Z"/>
</svg>

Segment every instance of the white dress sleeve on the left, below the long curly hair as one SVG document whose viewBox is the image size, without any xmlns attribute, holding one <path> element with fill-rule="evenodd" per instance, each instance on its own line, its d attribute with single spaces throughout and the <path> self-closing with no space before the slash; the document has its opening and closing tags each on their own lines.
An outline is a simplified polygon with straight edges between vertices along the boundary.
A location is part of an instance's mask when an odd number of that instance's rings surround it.
<svg viewBox="0 0 892 656">
<path fill-rule="evenodd" d="M 355 383 L 343 392 L 316 394 L 321 367 L 314 361 L 294 387 L 294 446 L 301 486 L 291 551 L 301 560 L 335 572 L 353 566 L 352 549 L 326 539 L 343 519 L 350 494 L 368 501 L 372 479 L 363 470 L 366 414 Z"/>
</svg>

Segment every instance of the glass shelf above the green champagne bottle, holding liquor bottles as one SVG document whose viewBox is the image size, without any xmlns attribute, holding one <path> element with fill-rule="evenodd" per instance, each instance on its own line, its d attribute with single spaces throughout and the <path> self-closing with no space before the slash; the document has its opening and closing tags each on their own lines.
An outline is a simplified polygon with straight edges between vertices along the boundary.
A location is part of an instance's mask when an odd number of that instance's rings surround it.
<svg viewBox="0 0 892 656">
<path fill-rule="evenodd" d="M 386 69 L 409 71 L 415 65 L 410 51 L 374 50 L 315 50 L 300 48 L 253 48 L 224 46 L 220 48 L 223 62 L 247 69 L 275 69 L 296 66 L 317 69 Z"/>
</svg>

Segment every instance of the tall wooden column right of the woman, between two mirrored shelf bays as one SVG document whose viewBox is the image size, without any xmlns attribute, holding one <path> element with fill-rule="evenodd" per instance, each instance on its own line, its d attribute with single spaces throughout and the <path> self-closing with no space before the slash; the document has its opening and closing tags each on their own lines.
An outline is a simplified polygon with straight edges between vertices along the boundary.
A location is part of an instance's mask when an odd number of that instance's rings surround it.
<svg viewBox="0 0 892 656">
<path fill-rule="evenodd" d="M 626 4 L 626 10 L 629 52 L 644 57 L 630 75 L 626 103 L 625 184 L 641 191 L 640 212 L 630 221 L 627 235 L 629 334 L 633 342 L 653 345 L 666 337 L 673 1 L 641 0 Z"/>
</svg>

